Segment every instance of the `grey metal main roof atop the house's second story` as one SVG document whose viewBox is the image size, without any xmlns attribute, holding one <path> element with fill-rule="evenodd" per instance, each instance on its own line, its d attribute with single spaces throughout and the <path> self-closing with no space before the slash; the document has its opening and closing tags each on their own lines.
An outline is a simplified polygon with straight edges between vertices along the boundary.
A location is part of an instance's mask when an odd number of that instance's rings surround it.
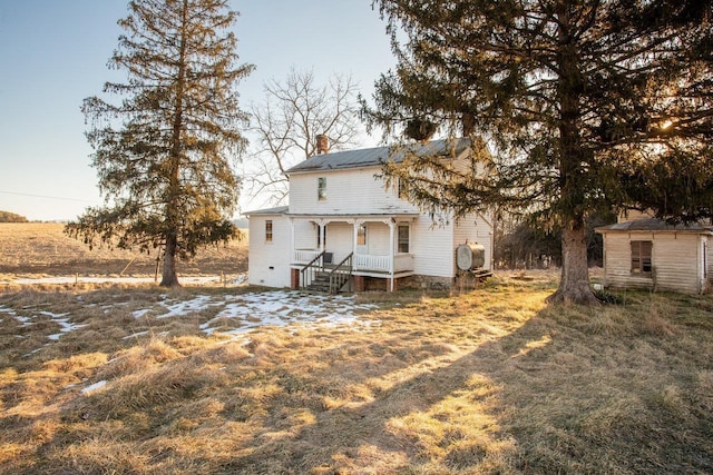
<svg viewBox="0 0 713 475">
<path fill-rule="evenodd" d="M 427 144 L 407 146 L 389 146 L 364 148 L 360 150 L 336 151 L 333 154 L 315 155 L 287 170 L 287 174 L 320 170 L 338 170 L 343 168 L 373 167 L 389 160 L 401 162 L 409 150 L 417 155 L 458 156 L 470 147 L 468 139 L 442 139 Z"/>
</svg>

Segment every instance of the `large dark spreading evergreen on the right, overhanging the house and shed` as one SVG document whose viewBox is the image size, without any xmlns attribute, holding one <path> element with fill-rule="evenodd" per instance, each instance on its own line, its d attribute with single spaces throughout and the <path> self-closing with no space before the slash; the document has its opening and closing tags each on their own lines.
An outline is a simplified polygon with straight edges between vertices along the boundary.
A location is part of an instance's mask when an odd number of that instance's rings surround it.
<svg viewBox="0 0 713 475">
<path fill-rule="evenodd" d="M 375 108 L 364 105 L 371 126 L 478 135 L 496 157 L 488 179 L 430 157 L 387 165 L 387 176 L 408 178 L 424 207 L 456 216 L 507 207 L 560 228 L 550 301 L 596 303 L 585 239 L 593 214 L 711 216 L 711 1 L 374 3 L 398 66 L 377 81 Z"/>
</svg>

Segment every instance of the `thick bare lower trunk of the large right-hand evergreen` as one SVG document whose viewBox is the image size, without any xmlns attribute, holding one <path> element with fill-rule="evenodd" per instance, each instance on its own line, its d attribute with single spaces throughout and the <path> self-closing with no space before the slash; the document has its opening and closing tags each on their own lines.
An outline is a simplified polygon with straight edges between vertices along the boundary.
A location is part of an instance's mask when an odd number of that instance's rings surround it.
<svg viewBox="0 0 713 475">
<path fill-rule="evenodd" d="M 561 278 L 557 291 L 547 298 L 547 303 L 579 305 L 598 305 L 599 303 L 589 287 L 584 225 L 565 228 L 561 231 Z"/>
</svg>

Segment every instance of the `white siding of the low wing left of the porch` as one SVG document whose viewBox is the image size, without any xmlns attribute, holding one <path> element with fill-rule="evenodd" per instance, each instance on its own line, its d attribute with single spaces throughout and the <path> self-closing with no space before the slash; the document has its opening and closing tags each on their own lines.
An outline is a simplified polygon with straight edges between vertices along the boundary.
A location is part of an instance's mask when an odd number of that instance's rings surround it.
<svg viewBox="0 0 713 475">
<path fill-rule="evenodd" d="M 265 241 L 265 221 L 272 220 L 272 243 Z M 250 217 L 247 281 L 266 287 L 290 286 L 290 219 L 282 215 Z"/>
</svg>

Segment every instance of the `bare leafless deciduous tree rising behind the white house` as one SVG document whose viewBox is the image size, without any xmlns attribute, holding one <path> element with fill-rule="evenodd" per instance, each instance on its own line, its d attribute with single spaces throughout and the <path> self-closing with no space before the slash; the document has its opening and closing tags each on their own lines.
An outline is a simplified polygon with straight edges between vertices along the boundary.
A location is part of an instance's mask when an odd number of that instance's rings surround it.
<svg viewBox="0 0 713 475">
<path fill-rule="evenodd" d="M 264 101 L 252 107 L 256 138 L 246 185 L 253 197 L 280 205 L 287 198 L 285 171 L 318 154 L 319 135 L 328 136 L 331 150 L 358 145 L 358 85 L 338 75 L 319 83 L 314 71 L 292 69 L 283 82 L 271 80 L 264 90 Z"/>
</svg>

